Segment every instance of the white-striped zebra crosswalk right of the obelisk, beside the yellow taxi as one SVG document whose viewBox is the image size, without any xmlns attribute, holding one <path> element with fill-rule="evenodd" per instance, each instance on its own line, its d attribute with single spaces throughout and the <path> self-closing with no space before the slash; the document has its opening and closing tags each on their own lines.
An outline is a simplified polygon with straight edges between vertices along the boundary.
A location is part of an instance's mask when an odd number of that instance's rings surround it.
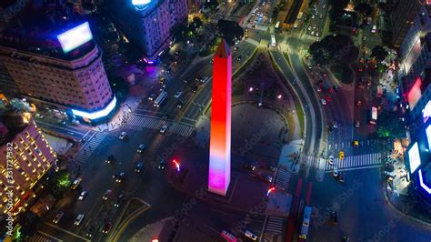
<svg viewBox="0 0 431 242">
<path fill-rule="evenodd" d="M 366 167 L 366 166 L 381 166 L 382 154 L 381 153 L 373 153 L 359 156 L 346 156 L 344 160 L 340 160 L 336 158 L 334 161 L 334 166 L 338 169 L 348 169 L 348 168 L 358 168 L 358 167 Z M 329 165 L 326 162 L 325 170 L 332 170 L 333 166 Z"/>
</svg>

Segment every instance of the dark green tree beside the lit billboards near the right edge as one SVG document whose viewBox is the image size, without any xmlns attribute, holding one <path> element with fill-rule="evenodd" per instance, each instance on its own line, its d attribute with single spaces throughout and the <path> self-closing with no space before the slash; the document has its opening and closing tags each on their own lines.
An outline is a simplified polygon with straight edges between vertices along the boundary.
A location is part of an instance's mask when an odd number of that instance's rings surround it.
<svg viewBox="0 0 431 242">
<path fill-rule="evenodd" d="M 405 126 L 396 113 L 384 110 L 377 118 L 377 136 L 391 139 L 405 137 Z"/>
</svg>

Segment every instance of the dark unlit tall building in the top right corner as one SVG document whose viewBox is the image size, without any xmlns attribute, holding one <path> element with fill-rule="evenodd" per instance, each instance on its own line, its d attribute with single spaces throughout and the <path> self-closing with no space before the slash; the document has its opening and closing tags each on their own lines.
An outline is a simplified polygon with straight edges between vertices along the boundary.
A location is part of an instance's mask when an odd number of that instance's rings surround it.
<svg viewBox="0 0 431 242">
<path fill-rule="evenodd" d="M 398 0 L 391 14 L 392 41 L 399 47 L 413 25 L 417 13 L 422 5 L 422 0 Z"/>
</svg>

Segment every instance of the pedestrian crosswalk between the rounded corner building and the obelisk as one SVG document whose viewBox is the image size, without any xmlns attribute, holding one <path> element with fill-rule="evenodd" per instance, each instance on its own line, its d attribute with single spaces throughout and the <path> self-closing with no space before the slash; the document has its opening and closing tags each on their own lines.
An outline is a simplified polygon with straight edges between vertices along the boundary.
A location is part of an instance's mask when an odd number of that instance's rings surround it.
<svg viewBox="0 0 431 242">
<path fill-rule="evenodd" d="M 194 126 L 189 126 L 181 123 L 150 117 L 150 116 L 131 116 L 127 122 L 127 128 L 141 130 L 142 128 L 160 129 L 162 126 L 168 126 L 168 131 L 181 135 L 190 136 L 194 130 Z"/>
</svg>

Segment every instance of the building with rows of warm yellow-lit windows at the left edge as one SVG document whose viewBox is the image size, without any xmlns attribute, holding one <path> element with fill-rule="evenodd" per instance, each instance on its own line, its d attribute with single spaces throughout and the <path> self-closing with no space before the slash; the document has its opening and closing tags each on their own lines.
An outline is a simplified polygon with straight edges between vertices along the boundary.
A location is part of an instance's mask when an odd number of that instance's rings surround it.
<svg viewBox="0 0 431 242">
<path fill-rule="evenodd" d="M 56 166 L 55 151 L 30 115 L 0 117 L 0 210 L 18 213 L 35 198 L 39 179 Z"/>
</svg>

